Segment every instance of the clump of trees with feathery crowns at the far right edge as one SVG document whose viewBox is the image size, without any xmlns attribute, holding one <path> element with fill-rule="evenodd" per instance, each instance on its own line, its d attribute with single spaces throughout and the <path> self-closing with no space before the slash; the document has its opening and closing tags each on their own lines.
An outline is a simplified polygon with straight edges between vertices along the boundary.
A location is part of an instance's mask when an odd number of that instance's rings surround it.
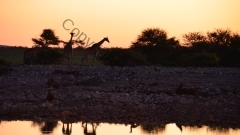
<svg viewBox="0 0 240 135">
<path fill-rule="evenodd" d="M 240 35 L 229 29 L 215 29 L 207 32 L 206 35 L 200 32 L 190 32 L 183 35 L 183 40 L 184 45 L 189 46 L 190 56 L 193 55 L 192 58 L 196 58 L 196 60 L 201 55 L 203 56 L 201 58 L 208 58 L 211 62 L 215 61 L 215 65 L 216 63 L 219 63 L 220 66 L 240 65 Z M 210 55 L 211 57 L 209 57 Z M 203 61 L 202 63 L 198 62 L 200 65 L 214 65 L 206 64 Z"/>
</svg>

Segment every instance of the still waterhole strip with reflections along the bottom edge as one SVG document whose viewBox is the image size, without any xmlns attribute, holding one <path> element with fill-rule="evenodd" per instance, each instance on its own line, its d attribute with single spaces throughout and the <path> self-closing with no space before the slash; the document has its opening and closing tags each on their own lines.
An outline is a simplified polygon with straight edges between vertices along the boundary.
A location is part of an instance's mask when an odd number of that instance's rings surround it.
<svg viewBox="0 0 240 135">
<path fill-rule="evenodd" d="M 177 127 L 176 124 L 149 126 L 111 123 L 1 121 L 0 135 L 240 135 L 240 129 L 207 126 Z M 182 131 L 181 131 L 182 129 Z"/>
</svg>

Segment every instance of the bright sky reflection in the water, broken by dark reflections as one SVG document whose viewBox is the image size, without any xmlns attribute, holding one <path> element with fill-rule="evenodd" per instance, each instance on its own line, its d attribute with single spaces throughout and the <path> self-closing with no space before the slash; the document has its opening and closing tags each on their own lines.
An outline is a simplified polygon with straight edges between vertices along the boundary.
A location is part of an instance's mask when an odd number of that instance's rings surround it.
<svg viewBox="0 0 240 135">
<path fill-rule="evenodd" d="M 43 124 L 33 124 L 31 121 L 2 121 L 0 125 L 0 135 L 42 135 L 41 127 Z M 143 129 L 151 129 L 148 132 Z M 91 131 L 91 126 L 88 125 L 88 130 Z M 239 135 L 240 129 L 219 129 L 203 126 L 197 127 L 183 127 L 181 133 L 180 129 L 175 124 L 167 124 L 164 126 L 138 126 L 132 129 L 130 133 L 130 125 L 124 124 L 109 124 L 100 123 L 96 129 L 97 135 Z M 62 135 L 62 123 L 58 122 L 57 127 L 49 135 Z M 71 135 L 84 135 L 82 123 L 72 124 Z"/>
</svg>

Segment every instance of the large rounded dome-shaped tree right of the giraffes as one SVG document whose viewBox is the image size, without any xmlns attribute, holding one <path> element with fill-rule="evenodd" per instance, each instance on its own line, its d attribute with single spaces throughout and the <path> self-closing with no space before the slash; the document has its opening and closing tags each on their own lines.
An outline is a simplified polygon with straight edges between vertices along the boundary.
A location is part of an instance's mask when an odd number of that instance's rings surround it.
<svg viewBox="0 0 240 135">
<path fill-rule="evenodd" d="M 162 64 L 174 60 L 174 49 L 179 46 L 175 37 L 168 38 L 160 28 L 147 28 L 132 42 L 130 49 L 142 52 L 151 63 Z"/>
</svg>

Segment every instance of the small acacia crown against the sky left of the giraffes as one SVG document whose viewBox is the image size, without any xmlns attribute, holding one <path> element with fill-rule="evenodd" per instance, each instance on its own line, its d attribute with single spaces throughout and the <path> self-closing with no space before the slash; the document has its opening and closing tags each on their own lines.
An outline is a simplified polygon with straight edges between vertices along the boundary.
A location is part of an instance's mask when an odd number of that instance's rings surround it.
<svg viewBox="0 0 240 135">
<path fill-rule="evenodd" d="M 32 38 L 32 41 L 34 42 L 34 46 L 42 48 L 47 48 L 49 45 L 59 45 L 61 42 L 51 29 L 44 29 L 40 38 Z"/>
</svg>

